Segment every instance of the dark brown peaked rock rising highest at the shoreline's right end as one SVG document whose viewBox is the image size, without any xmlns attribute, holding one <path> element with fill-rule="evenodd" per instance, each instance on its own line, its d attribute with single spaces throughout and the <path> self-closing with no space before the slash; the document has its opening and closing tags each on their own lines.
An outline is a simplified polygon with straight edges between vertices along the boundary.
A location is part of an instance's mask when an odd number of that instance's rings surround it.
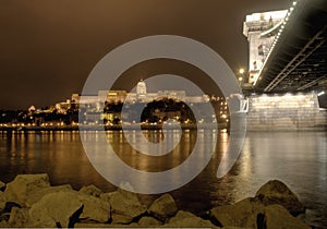
<svg viewBox="0 0 327 229">
<path fill-rule="evenodd" d="M 279 204 L 287 208 L 292 215 L 305 212 L 298 196 L 281 181 L 271 180 L 265 183 L 255 194 L 264 205 Z"/>
</svg>

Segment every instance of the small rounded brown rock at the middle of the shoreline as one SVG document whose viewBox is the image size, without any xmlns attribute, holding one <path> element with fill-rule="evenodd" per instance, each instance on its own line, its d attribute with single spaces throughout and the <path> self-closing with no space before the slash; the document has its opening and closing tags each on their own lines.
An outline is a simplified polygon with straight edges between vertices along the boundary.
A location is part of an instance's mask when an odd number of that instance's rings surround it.
<svg viewBox="0 0 327 229">
<path fill-rule="evenodd" d="M 170 194 L 161 195 L 159 198 L 154 201 L 154 203 L 148 208 L 148 214 L 161 221 L 165 221 L 171 216 L 174 216 L 177 212 L 178 207 Z"/>
</svg>

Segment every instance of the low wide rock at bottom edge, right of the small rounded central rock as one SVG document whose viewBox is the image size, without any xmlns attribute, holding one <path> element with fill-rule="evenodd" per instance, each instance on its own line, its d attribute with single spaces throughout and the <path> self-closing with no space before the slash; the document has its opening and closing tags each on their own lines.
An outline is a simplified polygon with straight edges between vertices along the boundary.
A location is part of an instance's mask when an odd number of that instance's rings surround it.
<svg viewBox="0 0 327 229">
<path fill-rule="evenodd" d="M 169 228 L 182 228 L 182 227 L 190 227 L 190 228 L 218 228 L 217 226 L 213 225 L 209 220 L 205 220 L 199 218 L 192 213 L 179 210 L 174 217 L 169 219 L 169 222 L 164 225 L 164 227 Z"/>
</svg>

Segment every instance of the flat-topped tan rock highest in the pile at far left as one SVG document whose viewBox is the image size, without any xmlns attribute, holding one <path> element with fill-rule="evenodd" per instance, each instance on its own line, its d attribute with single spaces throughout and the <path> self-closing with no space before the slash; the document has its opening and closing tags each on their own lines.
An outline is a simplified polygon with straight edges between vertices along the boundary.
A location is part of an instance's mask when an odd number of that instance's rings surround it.
<svg viewBox="0 0 327 229">
<path fill-rule="evenodd" d="M 40 174 L 19 174 L 7 184 L 4 194 L 7 201 L 25 205 L 27 195 L 36 190 L 50 186 L 49 177 L 46 173 Z"/>
</svg>

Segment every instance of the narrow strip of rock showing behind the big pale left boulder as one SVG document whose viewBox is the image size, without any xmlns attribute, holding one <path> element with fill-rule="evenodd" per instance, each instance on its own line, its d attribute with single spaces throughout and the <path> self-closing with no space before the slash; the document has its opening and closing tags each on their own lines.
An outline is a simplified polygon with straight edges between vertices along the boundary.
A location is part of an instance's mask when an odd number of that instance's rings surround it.
<svg viewBox="0 0 327 229">
<path fill-rule="evenodd" d="M 64 185 L 58 185 L 58 186 L 47 186 L 47 188 L 35 190 L 33 192 L 28 192 L 26 195 L 25 205 L 27 207 L 31 207 L 33 204 L 38 202 L 45 195 L 50 194 L 50 193 L 60 192 L 60 191 L 73 191 L 73 189 L 70 184 L 64 184 Z"/>
</svg>

